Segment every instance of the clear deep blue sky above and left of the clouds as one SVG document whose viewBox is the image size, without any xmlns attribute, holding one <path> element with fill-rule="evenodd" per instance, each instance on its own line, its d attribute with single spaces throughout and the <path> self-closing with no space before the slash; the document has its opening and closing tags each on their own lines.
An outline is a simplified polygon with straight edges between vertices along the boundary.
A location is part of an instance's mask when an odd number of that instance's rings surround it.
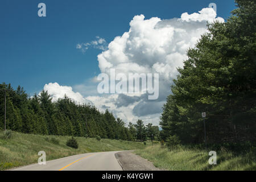
<svg viewBox="0 0 256 182">
<path fill-rule="evenodd" d="M 38 3 L 46 3 L 47 17 L 37 14 Z M 228 18 L 235 8 L 228 1 L 0 1 L 0 81 L 21 85 L 27 93 L 43 89 L 48 82 L 76 85 L 98 73 L 99 49 L 85 53 L 77 43 L 96 36 L 111 42 L 129 30 L 134 15 L 145 19 L 180 17 L 217 4 L 217 15 Z"/>
</svg>

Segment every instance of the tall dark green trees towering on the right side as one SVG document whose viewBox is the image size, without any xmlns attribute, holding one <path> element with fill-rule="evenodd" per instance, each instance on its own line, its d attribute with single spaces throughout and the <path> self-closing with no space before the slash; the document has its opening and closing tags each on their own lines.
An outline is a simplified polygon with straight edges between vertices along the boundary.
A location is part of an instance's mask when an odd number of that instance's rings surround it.
<svg viewBox="0 0 256 182">
<path fill-rule="evenodd" d="M 161 137 L 171 143 L 256 141 L 256 2 L 237 0 L 225 23 L 208 25 L 178 68 L 163 107 Z"/>
</svg>

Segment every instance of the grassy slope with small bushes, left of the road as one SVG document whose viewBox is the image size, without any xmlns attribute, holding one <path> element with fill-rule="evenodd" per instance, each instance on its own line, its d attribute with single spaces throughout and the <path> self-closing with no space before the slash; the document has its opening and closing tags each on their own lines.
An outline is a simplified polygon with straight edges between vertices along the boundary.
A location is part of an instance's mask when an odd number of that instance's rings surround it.
<svg viewBox="0 0 256 182">
<path fill-rule="evenodd" d="M 47 138 L 55 138 L 57 142 L 49 142 Z M 65 156 L 82 154 L 86 152 L 118 151 L 143 149 L 142 142 L 129 142 L 124 140 L 75 137 L 79 148 L 66 146 L 71 137 L 34 135 L 13 132 L 13 137 L 5 139 L 0 131 L 0 170 L 24 166 L 38 162 L 38 152 L 45 151 L 46 159 L 52 160 Z"/>
</svg>

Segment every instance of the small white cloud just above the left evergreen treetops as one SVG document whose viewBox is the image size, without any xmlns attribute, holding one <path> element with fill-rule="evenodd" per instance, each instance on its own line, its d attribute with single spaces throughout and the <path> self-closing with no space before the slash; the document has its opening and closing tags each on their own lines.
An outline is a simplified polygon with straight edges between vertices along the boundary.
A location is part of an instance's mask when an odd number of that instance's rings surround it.
<svg viewBox="0 0 256 182">
<path fill-rule="evenodd" d="M 57 82 L 44 85 L 44 91 L 47 91 L 52 98 L 52 101 L 57 101 L 59 98 L 64 98 L 65 94 L 75 101 L 76 104 L 90 104 L 92 102 L 86 100 L 79 92 L 73 92 L 71 86 L 61 86 Z"/>
</svg>

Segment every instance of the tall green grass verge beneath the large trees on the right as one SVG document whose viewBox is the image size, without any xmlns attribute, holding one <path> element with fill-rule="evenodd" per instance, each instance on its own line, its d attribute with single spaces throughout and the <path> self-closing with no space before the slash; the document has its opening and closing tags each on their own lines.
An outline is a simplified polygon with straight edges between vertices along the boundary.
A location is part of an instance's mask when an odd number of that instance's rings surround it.
<svg viewBox="0 0 256 182">
<path fill-rule="evenodd" d="M 168 170 L 256 170 L 256 148 L 240 147 L 234 152 L 226 147 L 218 147 L 217 165 L 209 165 L 208 152 L 199 147 L 176 146 L 172 149 L 154 145 L 135 154 L 150 160 L 156 167 Z"/>
</svg>

